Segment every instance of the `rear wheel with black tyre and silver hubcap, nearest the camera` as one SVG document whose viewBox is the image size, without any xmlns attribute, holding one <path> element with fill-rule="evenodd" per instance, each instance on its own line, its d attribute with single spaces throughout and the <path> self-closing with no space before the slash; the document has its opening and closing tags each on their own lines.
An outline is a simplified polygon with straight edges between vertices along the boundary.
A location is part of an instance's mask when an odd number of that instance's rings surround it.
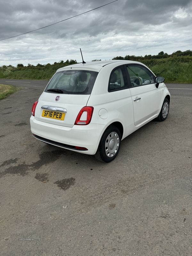
<svg viewBox="0 0 192 256">
<path fill-rule="evenodd" d="M 111 162 L 117 156 L 121 146 L 121 133 L 116 126 L 109 126 L 103 133 L 95 157 L 105 163 Z"/>
</svg>

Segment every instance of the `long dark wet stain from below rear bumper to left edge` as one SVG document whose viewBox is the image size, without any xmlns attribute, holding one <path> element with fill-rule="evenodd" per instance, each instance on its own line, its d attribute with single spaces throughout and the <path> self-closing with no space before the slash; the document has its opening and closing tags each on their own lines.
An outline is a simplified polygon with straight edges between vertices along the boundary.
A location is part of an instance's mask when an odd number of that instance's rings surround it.
<svg viewBox="0 0 192 256">
<path fill-rule="evenodd" d="M 33 164 L 18 164 L 14 166 L 10 166 L 7 168 L 5 171 L 0 172 L 0 178 L 3 175 L 6 174 L 19 174 L 21 176 L 25 176 L 28 174 L 28 172 L 35 171 L 40 169 L 43 165 L 53 163 L 56 161 L 60 155 L 65 155 L 66 152 L 64 150 L 54 150 L 54 151 L 48 151 L 48 152 L 43 152 L 39 155 L 40 160 L 36 161 Z M 4 161 L 4 163 L 1 166 L 8 165 L 8 164 L 15 164 L 17 163 L 17 158 L 15 159 L 10 159 L 7 161 Z"/>
</svg>

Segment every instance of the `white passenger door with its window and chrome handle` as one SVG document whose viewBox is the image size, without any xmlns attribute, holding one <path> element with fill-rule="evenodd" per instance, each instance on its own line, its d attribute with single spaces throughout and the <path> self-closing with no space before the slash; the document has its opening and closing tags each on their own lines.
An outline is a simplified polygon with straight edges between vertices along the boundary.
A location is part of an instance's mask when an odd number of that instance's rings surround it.
<svg viewBox="0 0 192 256">
<path fill-rule="evenodd" d="M 139 64 L 126 65 L 126 73 L 134 110 L 134 124 L 140 125 L 160 109 L 161 92 L 156 88 L 155 76 Z"/>
</svg>

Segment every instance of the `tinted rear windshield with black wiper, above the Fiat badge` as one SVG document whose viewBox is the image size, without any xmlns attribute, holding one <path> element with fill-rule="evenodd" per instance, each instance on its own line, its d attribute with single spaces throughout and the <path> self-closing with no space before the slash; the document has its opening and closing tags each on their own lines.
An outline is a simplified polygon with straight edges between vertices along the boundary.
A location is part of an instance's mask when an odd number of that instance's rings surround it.
<svg viewBox="0 0 192 256">
<path fill-rule="evenodd" d="M 45 92 L 64 94 L 91 94 L 98 72 L 65 70 L 55 73 Z M 58 90 L 58 91 L 57 91 Z"/>
</svg>

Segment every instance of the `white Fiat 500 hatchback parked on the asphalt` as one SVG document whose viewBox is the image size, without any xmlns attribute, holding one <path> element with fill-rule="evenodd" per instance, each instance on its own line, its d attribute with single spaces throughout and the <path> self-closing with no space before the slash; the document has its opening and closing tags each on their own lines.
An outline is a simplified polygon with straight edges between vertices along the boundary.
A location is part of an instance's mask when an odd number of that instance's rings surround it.
<svg viewBox="0 0 192 256">
<path fill-rule="evenodd" d="M 167 118 L 170 93 L 163 82 L 137 61 L 60 68 L 33 105 L 31 132 L 45 143 L 108 163 L 121 140 L 154 118 Z"/>
</svg>

